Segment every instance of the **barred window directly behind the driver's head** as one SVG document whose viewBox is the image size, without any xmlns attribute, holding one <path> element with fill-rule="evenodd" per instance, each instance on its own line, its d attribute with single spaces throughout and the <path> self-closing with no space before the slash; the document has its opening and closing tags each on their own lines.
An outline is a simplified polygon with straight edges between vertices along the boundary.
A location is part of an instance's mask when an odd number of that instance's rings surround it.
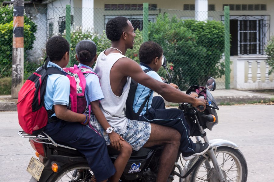
<svg viewBox="0 0 274 182">
<path fill-rule="evenodd" d="M 115 18 L 118 15 L 105 15 L 104 18 L 104 24 L 106 28 L 106 24 L 110 19 Z M 134 27 L 134 30 L 137 28 L 139 30 L 143 30 L 143 15 L 122 15 L 129 19 L 129 21 L 132 23 L 132 26 Z M 148 20 L 149 22 L 156 22 L 157 15 L 149 15 Z"/>
</svg>

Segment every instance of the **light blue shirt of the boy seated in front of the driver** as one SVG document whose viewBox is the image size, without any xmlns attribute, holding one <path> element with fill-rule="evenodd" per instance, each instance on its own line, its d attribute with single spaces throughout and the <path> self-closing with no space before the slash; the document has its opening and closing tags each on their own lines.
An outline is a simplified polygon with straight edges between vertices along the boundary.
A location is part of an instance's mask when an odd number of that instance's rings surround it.
<svg viewBox="0 0 274 182">
<path fill-rule="evenodd" d="M 142 70 L 148 69 L 145 66 L 142 66 L 142 65 L 140 65 L 140 66 L 141 66 Z M 160 82 L 163 82 L 161 77 L 158 75 L 158 73 L 156 73 L 152 70 L 147 72 L 146 74 Z M 138 110 L 141 107 L 142 103 L 144 102 L 145 98 L 149 95 L 149 91 L 150 91 L 150 89 L 148 87 L 145 87 L 138 83 L 138 86 L 137 86 L 137 89 L 135 92 L 134 101 L 133 101 L 133 106 L 132 106 L 135 113 L 138 112 Z M 153 98 L 153 91 L 149 97 L 148 109 L 151 107 L 152 98 Z M 147 106 L 147 103 L 145 104 L 144 109 L 140 113 L 140 116 L 146 114 L 146 106 Z"/>
</svg>

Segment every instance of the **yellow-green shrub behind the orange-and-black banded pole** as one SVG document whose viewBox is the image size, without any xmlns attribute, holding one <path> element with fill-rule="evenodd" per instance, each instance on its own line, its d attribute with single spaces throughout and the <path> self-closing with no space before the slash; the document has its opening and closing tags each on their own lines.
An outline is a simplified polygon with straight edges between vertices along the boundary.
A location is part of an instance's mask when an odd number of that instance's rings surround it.
<svg viewBox="0 0 274 182">
<path fill-rule="evenodd" d="M 12 72 L 13 6 L 0 6 L 0 14 L 2 15 L 0 16 L 0 41 L 2 42 L 0 45 L 0 67 L 2 68 L 0 77 L 9 77 Z M 33 48 L 36 31 L 37 25 L 24 16 L 24 60 L 26 60 L 26 51 Z"/>
</svg>

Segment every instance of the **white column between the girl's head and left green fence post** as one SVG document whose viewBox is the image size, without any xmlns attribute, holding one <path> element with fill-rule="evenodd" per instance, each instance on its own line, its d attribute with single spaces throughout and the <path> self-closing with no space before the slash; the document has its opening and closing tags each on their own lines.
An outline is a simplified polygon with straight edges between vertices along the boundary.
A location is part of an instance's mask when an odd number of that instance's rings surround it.
<svg viewBox="0 0 274 182">
<path fill-rule="evenodd" d="M 82 30 L 94 29 L 94 0 L 82 0 Z"/>
</svg>

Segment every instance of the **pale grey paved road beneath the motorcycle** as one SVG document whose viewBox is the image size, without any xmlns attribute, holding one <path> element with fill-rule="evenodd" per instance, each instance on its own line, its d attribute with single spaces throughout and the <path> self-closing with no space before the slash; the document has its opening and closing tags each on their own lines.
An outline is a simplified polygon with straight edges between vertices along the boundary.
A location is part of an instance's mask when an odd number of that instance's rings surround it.
<svg viewBox="0 0 274 182">
<path fill-rule="evenodd" d="M 220 122 L 207 131 L 209 139 L 237 143 L 248 164 L 248 182 L 274 181 L 274 105 L 221 106 Z M 26 167 L 35 156 L 21 130 L 16 112 L 0 112 L 0 181 L 30 179 Z M 178 180 L 176 180 L 178 181 Z"/>
</svg>

